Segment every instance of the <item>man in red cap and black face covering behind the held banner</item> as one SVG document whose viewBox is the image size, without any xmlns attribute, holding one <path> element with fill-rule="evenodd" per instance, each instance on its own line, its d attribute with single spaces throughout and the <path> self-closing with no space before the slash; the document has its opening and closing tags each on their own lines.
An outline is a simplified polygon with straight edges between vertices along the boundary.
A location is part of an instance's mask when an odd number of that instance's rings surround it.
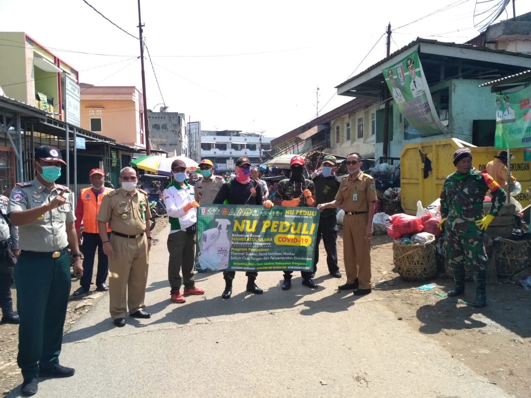
<svg viewBox="0 0 531 398">
<path fill-rule="evenodd" d="M 304 178 L 304 158 L 295 155 L 289 162 L 290 177 L 281 180 L 278 183 L 275 192 L 275 205 L 277 206 L 294 206 L 294 207 L 314 207 L 315 206 L 315 185 L 312 180 Z M 313 265 L 313 271 L 301 271 L 302 284 L 310 289 L 316 289 L 318 286 L 312 280 L 316 265 Z M 292 287 L 292 271 L 284 271 L 284 283 L 282 290 L 289 290 Z"/>
</svg>

